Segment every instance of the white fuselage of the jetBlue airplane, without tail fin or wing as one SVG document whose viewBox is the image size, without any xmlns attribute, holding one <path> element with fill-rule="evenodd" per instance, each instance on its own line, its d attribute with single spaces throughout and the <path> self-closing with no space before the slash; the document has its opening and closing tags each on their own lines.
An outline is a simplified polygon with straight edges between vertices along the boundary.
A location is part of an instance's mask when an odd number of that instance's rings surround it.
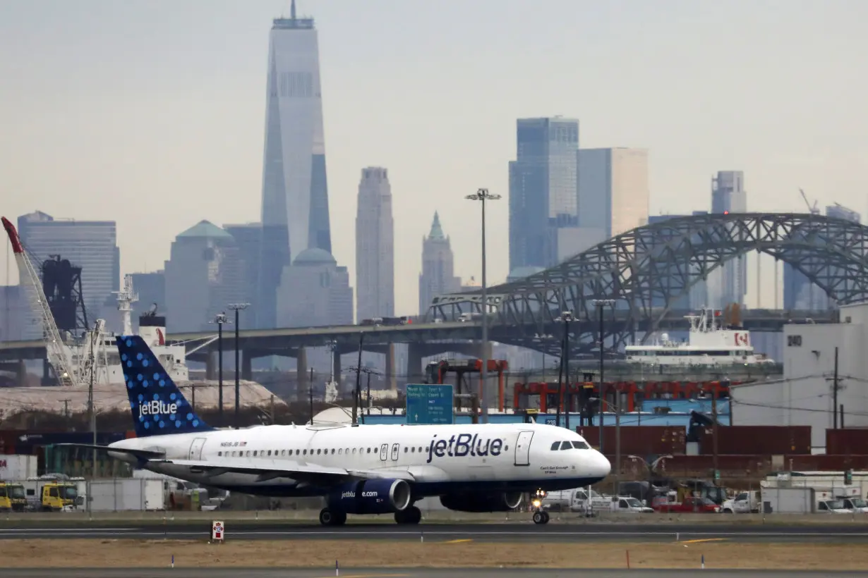
<svg viewBox="0 0 868 578">
<path fill-rule="evenodd" d="M 561 450 L 563 442 L 577 444 Z M 167 460 L 207 463 L 203 468 L 150 460 L 143 466 L 199 484 L 279 497 L 330 491 L 327 485 L 281 475 L 286 470 L 281 464 L 290 463 L 376 471 L 383 478 L 410 474 L 414 499 L 467 490 L 564 490 L 594 484 L 609 471 L 608 460 L 581 436 L 541 424 L 264 425 L 130 438 L 109 447 L 163 451 Z M 109 455 L 136 462 L 126 453 Z M 220 463 L 230 461 L 260 471 L 220 471 Z M 275 473 L 264 475 L 271 466 Z"/>
</svg>

